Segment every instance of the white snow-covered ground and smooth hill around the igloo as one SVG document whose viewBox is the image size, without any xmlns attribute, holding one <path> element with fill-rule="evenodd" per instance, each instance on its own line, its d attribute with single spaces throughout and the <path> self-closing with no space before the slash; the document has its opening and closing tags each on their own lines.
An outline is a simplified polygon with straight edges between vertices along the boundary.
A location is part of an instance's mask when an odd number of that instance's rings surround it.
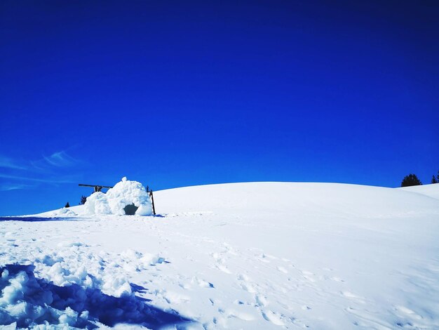
<svg viewBox="0 0 439 330">
<path fill-rule="evenodd" d="M 205 185 L 154 192 L 158 216 L 3 218 L 0 324 L 437 329 L 439 185 L 412 189 Z"/>
</svg>

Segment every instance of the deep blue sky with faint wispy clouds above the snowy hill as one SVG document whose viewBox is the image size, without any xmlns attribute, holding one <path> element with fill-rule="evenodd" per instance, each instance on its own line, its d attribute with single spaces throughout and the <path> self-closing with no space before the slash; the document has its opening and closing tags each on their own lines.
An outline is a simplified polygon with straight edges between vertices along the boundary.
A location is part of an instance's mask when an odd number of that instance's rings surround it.
<svg viewBox="0 0 439 330">
<path fill-rule="evenodd" d="M 439 170 L 438 1 L 0 1 L 0 215 L 122 176 Z"/>
</svg>

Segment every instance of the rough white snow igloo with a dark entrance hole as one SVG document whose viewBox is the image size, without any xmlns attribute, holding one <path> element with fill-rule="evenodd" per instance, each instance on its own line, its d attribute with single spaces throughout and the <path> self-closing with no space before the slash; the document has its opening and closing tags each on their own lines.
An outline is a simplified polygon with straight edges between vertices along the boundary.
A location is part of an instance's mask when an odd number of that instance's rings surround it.
<svg viewBox="0 0 439 330">
<path fill-rule="evenodd" d="M 122 178 L 107 194 L 95 192 L 85 204 L 88 214 L 115 214 L 117 216 L 151 216 L 152 207 L 142 183 Z"/>
</svg>

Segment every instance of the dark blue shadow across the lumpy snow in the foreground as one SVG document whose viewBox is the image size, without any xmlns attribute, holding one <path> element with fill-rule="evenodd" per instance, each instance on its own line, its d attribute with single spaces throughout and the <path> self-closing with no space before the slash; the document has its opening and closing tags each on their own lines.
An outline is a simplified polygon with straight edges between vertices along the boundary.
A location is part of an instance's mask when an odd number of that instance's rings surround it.
<svg viewBox="0 0 439 330">
<path fill-rule="evenodd" d="M 138 324 L 149 329 L 160 329 L 164 326 L 178 329 L 179 324 L 193 322 L 180 316 L 175 310 L 164 311 L 147 305 L 145 302 L 150 300 L 146 298 L 134 295 L 116 298 L 102 293 L 100 289 L 84 289 L 78 284 L 56 286 L 52 282 L 36 278 L 34 268 L 33 265 L 6 265 L 0 268 L 0 290 L 4 293 L 1 299 L 3 304 L 0 304 L 0 324 L 17 322 L 18 327 L 44 322 L 59 324 L 63 319 L 60 317 L 62 314 L 67 314 L 64 319 L 69 319 L 70 326 L 88 329 L 97 328 L 94 321 L 107 326 L 119 323 Z M 17 286 L 18 282 L 20 285 Z M 5 289 L 6 287 L 9 289 Z M 11 287 L 20 289 L 13 291 Z M 136 284 L 131 284 L 131 288 L 140 293 L 147 290 Z M 10 306 L 25 302 L 25 307 L 22 307 L 25 308 L 24 315 L 10 315 L 7 308 L 1 307 L 5 301 Z"/>
</svg>

